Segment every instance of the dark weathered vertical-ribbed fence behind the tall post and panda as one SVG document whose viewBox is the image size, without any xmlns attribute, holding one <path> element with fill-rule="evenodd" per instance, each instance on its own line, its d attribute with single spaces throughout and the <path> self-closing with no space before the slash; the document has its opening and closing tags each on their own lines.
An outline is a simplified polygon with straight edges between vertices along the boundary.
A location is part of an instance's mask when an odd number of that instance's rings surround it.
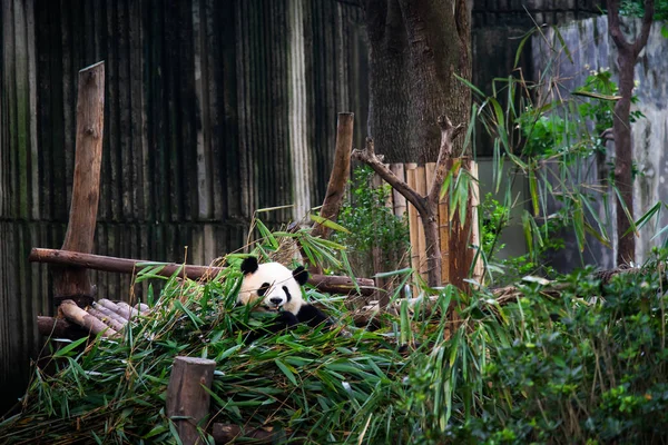
<svg viewBox="0 0 668 445">
<path fill-rule="evenodd" d="M 325 192 L 336 112 L 364 122 L 367 103 L 362 12 L 344 2 L 1 6 L 0 409 L 52 310 L 50 273 L 27 258 L 65 238 L 79 69 L 107 70 L 95 251 L 126 258 L 208 264 L 244 245 L 255 210 L 296 204 L 263 214 L 273 226 L 303 216 Z M 127 275 L 91 280 L 129 294 Z"/>
</svg>

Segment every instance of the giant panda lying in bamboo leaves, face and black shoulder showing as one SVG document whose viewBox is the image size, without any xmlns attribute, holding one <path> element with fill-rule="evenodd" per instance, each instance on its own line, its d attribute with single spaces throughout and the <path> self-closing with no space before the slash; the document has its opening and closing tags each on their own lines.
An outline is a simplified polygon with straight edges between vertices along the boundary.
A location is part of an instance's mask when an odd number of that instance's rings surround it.
<svg viewBox="0 0 668 445">
<path fill-rule="evenodd" d="M 302 297 L 302 286 L 308 279 L 303 266 L 289 270 L 279 263 L 258 264 L 256 257 L 247 257 L 242 263 L 242 273 L 237 305 L 254 305 L 256 310 L 277 313 L 266 330 L 276 333 L 301 323 L 311 327 L 328 325 L 327 316 Z"/>
</svg>

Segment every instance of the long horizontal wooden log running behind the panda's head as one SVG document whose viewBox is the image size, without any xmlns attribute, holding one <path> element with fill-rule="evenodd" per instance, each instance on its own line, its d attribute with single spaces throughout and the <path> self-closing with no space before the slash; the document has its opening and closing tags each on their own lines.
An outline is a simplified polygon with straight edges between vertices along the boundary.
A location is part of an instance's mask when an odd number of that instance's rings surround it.
<svg viewBox="0 0 668 445">
<path fill-rule="evenodd" d="M 33 248 L 30 251 L 28 260 L 33 263 L 50 263 L 67 266 L 80 266 L 88 269 L 116 271 L 120 274 L 136 274 L 147 265 L 164 266 L 163 269 L 155 271 L 156 275 L 170 277 L 177 270 L 190 279 L 213 279 L 223 267 L 177 265 L 174 263 L 156 263 L 145 259 L 127 259 L 107 257 L 102 255 L 81 254 L 77 251 L 66 251 L 58 249 Z M 353 281 L 348 277 L 312 274 L 308 283 L 318 290 L 332 294 L 351 294 L 354 290 Z M 374 291 L 374 283 L 371 278 L 357 278 L 361 295 L 371 295 Z"/>
</svg>

